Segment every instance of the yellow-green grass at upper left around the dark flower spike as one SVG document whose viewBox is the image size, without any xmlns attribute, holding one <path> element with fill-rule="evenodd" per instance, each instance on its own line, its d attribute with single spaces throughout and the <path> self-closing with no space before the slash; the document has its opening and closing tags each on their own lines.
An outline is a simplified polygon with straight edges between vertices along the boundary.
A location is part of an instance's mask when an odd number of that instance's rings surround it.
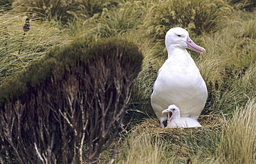
<svg viewBox="0 0 256 164">
<path fill-rule="evenodd" d="M 24 35 L 26 17 L 14 14 L 15 10 L 0 14 L 0 83 L 41 59 L 50 48 L 71 41 L 65 30 L 49 22 L 30 21 L 30 30 Z"/>
</svg>

